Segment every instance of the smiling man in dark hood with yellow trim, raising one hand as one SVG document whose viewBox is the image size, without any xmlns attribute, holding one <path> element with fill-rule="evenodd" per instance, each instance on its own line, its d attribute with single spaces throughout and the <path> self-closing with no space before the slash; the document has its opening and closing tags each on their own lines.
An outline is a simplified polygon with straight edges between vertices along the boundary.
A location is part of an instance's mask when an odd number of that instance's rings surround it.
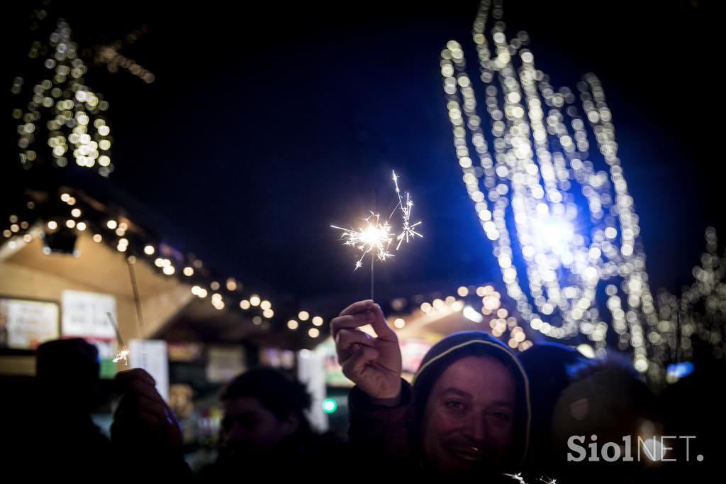
<svg viewBox="0 0 726 484">
<path fill-rule="evenodd" d="M 446 336 L 401 379 L 401 350 L 383 311 L 355 302 L 331 321 L 351 390 L 351 444 L 411 477 L 515 482 L 529 445 L 529 382 L 484 331 Z M 377 337 L 360 331 L 372 325 Z M 484 481 L 482 481 L 484 479 Z"/>
</svg>

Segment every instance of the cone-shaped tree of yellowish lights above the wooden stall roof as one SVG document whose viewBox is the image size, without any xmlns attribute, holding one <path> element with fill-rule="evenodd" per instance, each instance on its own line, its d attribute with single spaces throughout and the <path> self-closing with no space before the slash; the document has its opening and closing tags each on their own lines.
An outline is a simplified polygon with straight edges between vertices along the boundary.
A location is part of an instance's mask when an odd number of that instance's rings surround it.
<svg viewBox="0 0 726 484">
<path fill-rule="evenodd" d="M 108 102 L 84 84 L 86 65 L 78 57 L 78 46 L 70 40 L 70 33 L 68 23 L 59 20 L 49 43 L 41 46 L 36 41 L 28 53 L 31 59 L 44 60 L 45 78 L 33 86 L 25 110 L 12 113 L 20 121 L 20 162 L 30 168 L 45 158 L 41 150 L 47 147 L 54 166 L 67 166 L 71 160 L 108 177 L 113 172 L 112 140 L 109 126 L 99 116 L 107 110 Z M 23 83 L 23 78 L 15 78 L 12 92 L 20 94 Z"/>
</svg>

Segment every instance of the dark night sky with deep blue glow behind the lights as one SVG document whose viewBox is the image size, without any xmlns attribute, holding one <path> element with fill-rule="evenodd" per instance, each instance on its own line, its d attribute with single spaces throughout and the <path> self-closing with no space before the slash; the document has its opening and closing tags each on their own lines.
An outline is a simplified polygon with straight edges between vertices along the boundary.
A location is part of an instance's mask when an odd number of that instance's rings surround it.
<svg viewBox="0 0 726 484">
<path fill-rule="evenodd" d="M 364 297 L 367 271 L 352 272 L 356 254 L 328 226 L 390 211 L 396 169 L 425 238 L 377 265 L 382 293 L 492 280 L 494 257 L 460 181 L 439 75 L 446 41 L 470 45 L 478 2 L 320 3 L 52 3 L 81 47 L 147 28 L 121 53 L 154 73 L 153 84 L 98 66 L 86 76 L 111 105 L 116 169 L 100 191 L 128 194 L 169 242 L 252 289 L 303 301 Z M 722 42 L 715 2 L 632 3 L 505 1 L 505 20 L 531 34 L 555 86 L 600 76 L 648 272 L 653 286 L 674 290 L 691 280 L 706 225 L 726 228 Z M 8 8 L 5 86 L 33 40 L 28 6 Z M 10 166 L 15 126 L 4 126 L 7 194 L 33 174 Z"/>
</svg>

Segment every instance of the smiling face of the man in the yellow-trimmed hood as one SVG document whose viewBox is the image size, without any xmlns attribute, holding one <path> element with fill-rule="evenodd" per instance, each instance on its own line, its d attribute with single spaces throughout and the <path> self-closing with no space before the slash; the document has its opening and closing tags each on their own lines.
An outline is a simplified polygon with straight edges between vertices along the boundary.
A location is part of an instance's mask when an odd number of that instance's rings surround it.
<svg viewBox="0 0 726 484">
<path fill-rule="evenodd" d="M 443 473 L 507 461 L 514 438 L 515 381 L 499 360 L 470 356 L 444 370 L 426 402 L 423 453 Z"/>
</svg>

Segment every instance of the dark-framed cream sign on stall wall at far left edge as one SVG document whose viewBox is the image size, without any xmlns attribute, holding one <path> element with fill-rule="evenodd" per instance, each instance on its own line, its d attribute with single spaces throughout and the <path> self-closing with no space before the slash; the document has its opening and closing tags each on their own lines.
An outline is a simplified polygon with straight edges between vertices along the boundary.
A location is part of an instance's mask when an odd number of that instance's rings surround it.
<svg viewBox="0 0 726 484">
<path fill-rule="evenodd" d="M 0 348 L 35 350 L 38 344 L 58 338 L 57 302 L 0 297 Z"/>
</svg>

